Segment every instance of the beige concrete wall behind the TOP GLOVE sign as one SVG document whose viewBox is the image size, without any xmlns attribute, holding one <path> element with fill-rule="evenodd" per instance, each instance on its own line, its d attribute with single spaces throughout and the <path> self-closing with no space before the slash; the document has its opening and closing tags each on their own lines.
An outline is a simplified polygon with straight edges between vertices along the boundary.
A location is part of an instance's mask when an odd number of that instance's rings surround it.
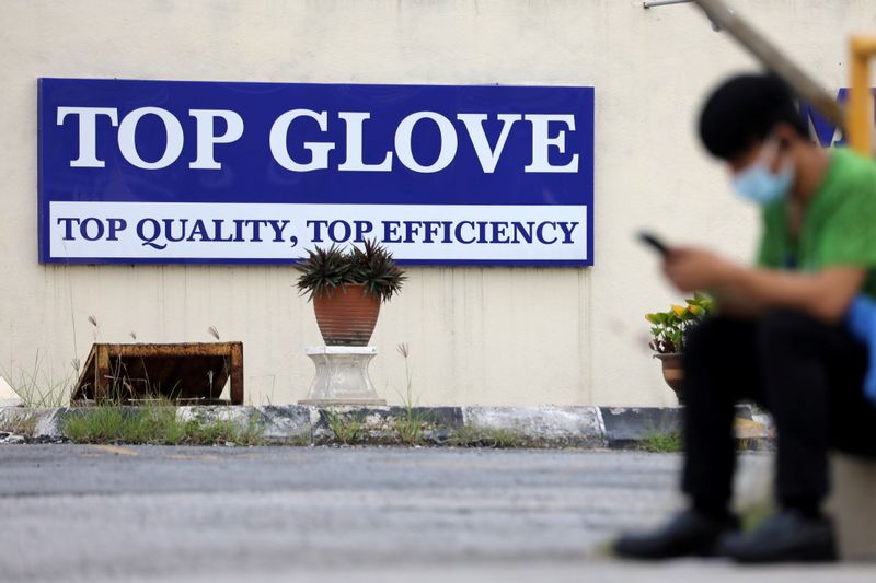
<svg viewBox="0 0 876 583">
<path fill-rule="evenodd" d="M 733 0 L 831 90 L 869 0 Z M 244 342 L 247 397 L 302 398 L 320 342 L 278 267 L 41 266 L 36 78 L 596 88 L 596 267 L 417 268 L 373 343 L 378 390 L 429 404 L 668 405 L 642 314 L 677 299 L 633 241 L 649 226 L 748 258 L 753 211 L 702 154 L 703 93 L 752 61 L 692 7 L 642 0 L 3 0 L 0 364 L 60 378 L 92 341 Z M 93 315 L 95 330 L 88 323 Z"/>
</svg>

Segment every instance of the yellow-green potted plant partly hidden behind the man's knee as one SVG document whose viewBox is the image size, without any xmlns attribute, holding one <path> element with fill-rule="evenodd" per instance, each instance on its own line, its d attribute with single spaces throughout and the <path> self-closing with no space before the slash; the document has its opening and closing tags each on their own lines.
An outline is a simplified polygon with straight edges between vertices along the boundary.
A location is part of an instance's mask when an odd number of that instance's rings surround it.
<svg viewBox="0 0 876 583">
<path fill-rule="evenodd" d="M 696 326 L 700 320 L 712 311 L 712 300 L 696 292 L 693 299 L 685 300 L 687 306 L 672 304 L 667 312 L 645 314 L 645 319 L 652 325 L 650 348 L 654 358 L 662 364 L 664 380 L 669 385 L 679 403 L 684 403 L 684 370 L 681 354 L 684 351 L 684 340 L 688 331 Z"/>
</svg>

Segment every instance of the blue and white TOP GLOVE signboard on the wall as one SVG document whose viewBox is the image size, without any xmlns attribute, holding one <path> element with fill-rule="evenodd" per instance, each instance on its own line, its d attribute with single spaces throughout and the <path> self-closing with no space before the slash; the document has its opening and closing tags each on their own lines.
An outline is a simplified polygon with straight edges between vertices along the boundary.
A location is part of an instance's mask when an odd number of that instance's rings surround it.
<svg viewBox="0 0 876 583">
<path fill-rule="evenodd" d="M 592 265 L 592 88 L 38 83 L 44 263 Z"/>
</svg>

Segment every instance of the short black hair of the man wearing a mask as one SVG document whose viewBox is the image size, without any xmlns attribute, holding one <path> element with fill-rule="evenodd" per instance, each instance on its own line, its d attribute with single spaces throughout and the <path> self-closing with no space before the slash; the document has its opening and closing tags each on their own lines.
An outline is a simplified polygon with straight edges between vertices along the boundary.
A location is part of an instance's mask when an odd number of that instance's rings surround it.
<svg viewBox="0 0 876 583">
<path fill-rule="evenodd" d="M 809 138 L 809 126 L 784 81 L 773 74 L 737 75 L 714 90 L 703 105 L 700 139 L 712 155 L 728 160 L 765 139 L 780 121 Z"/>
</svg>

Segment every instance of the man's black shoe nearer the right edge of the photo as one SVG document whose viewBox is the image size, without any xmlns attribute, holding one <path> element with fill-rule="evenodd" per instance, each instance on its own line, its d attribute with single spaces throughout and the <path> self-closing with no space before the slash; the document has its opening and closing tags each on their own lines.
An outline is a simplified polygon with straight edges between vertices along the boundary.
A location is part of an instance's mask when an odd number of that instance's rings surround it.
<svg viewBox="0 0 876 583">
<path fill-rule="evenodd" d="M 835 561 L 837 537 L 830 518 L 783 510 L 753 533 L 725 536 L 717 552 L 746 563 Z"/>
</svg>

